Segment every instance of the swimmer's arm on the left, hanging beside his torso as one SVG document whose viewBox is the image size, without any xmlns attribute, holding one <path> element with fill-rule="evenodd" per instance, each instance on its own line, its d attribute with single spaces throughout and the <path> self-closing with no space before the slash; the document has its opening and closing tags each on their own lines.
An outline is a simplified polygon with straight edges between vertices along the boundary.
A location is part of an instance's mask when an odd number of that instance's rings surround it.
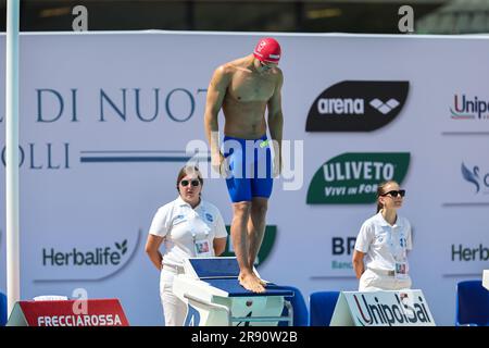
<svg viewBox="0 0 489 348">
<path fill-rule="evenodd" d="M 220 153 L 220 137 L 218 137 L 218 120 L 217 115 L 221 108 L 223 107 L 224 96 L 226 95 L 226 89 L 229 84 L 229 76 L 226 73 L 225 66 L 220 66 L 214 72 L 211 83 L 208 87 L 208 97 L 205 101 L 205 114 L 204 114 L 204 125 L 205 125 L 205 136 L 211 146 L 211 156 L 213 164 L 218 164 Z"/>
</svg>

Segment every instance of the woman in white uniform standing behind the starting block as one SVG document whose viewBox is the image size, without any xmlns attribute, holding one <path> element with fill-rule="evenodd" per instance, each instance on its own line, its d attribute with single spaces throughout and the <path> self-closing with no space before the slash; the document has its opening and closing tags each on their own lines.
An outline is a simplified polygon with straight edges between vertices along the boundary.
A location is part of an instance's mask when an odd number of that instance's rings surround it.
<svg viewBox="0 0 489 348">
<path fill-rule="evenodd" d="M 161 271 L 160 296 L 166 326 L 181 326 L 187 306 L 173 294 L 173 278 L 183 273 L 184 259 L 224 252 L 227 232 L 218 209 L 202 200 L 203 179 L 195 166 L 185 166 L 177 177 L 179 196 L 161 207 L 149 229 L 146 252 Z M 160 246 L 164 241 L 164 254 Z"/>
</svg>

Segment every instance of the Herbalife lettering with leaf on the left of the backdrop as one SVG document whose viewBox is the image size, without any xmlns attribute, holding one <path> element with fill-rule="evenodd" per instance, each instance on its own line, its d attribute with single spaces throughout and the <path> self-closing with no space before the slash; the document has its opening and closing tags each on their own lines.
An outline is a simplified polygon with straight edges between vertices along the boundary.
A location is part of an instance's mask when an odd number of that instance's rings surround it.
<svg viewBox="0 0 489 348">
<path fill-rule="evenodd" d="M 118 265 L 123 256 L 127 252 L 127 239 L 114 243 L 114 246 L 95 248 L 92 250 L 79 250 L 73 248 L 68 252 L 54 248 L 42 248 L 42 265 L 48 266 L 99 266 Z"/>
</svg>

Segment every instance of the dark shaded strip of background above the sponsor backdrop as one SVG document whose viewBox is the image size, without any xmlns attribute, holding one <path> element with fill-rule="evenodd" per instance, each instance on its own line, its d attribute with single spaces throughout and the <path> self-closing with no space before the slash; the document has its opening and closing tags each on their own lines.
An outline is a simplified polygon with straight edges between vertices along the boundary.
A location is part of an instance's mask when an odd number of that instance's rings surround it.
<svg viewBox="0 0 489 348">
<path fill-rule="evenodd" d="M 5 12 L 5 0 L 0 11 Z M 229 30 L 399 34 L 398 10 L 414 10 L 417 34 L 489 30 L 488 0 L 22 0 L 21 29 L 70 30 L 85 5 L 89 30 Z M 5 16 L 0 30 L 5 29 Z"/>
</svg>

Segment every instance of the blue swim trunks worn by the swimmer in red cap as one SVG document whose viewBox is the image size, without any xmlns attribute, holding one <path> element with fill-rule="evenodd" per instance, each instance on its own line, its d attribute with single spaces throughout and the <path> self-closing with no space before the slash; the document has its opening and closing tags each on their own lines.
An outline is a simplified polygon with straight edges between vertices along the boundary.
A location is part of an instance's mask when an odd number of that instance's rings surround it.
<svg viewBox="0 0 489 348">
<path fill-rule="evenodd" d="M 271 144 L 266 135 L 253 140 L 224 136 L 223 153 L 230 172 L 226 185 L 233 202 L 272 195 Z"/>
</svg>

